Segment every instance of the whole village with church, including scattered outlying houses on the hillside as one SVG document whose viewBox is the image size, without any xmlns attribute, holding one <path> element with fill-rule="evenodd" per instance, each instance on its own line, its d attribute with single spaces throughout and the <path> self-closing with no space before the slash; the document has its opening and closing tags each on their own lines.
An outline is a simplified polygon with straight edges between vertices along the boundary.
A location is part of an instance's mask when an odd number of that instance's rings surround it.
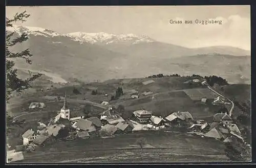
<svg viewBox="0 0 256 168">
<path fill-rule="evenodd" d="M 199 79 L 194 79 L 191 82 L 207 86 L 206 81 L 200 81 Z M 137 91 L 131 94 L 132 99 L 138 97 Z M 201 104 L 205 103 L 211 103 L 214 106 L 231 104 L 221 96 L 212 100 L 201 98 Z M 249 145 L 244 141 L 237 124 L 233 123 L 231 110 L 230 112 L 223 111 L 214 114 L 212 122 L 207 123 L 205 120 L 194 119 L 188 111 L 176 111 L 170 112 L 167 116 L 156 116 L 153 115 L 154 112 L 152 111 L 138 109 L 132 113 L 131 117 L 123 119 L 120 112 L 117 112 L 109 102 L 102 101 L 101 104 L 106 107 L 106 110 L 96 116 L 86 118 L 80 111 L 70 111 L 65 93 L 63 107 L 58 114 L 51 118 L 48 123 L 38 122 L 36 128 L 24 132 L 21 137 L 23 144 L 17 145 L 16 151 L 35 151 L 37 146 L 43 148 L 47 145 L 47 141 L 56 138 L 64 141 L 75 140 L 76 138 L 115 138 L 120 134 L 129 136 L 129 134 L 136 131 L 164 131 L 174 134 L 185 132 L 201 138 L 213 138 L 224 143 L 236 139 L 244 145 Z M 46 106 L 45 103 L 32 102 L 29 109 L 42 109 Z M 10 154 L 9 159 L 12 156 L 14 155 Z"/>
</svg>

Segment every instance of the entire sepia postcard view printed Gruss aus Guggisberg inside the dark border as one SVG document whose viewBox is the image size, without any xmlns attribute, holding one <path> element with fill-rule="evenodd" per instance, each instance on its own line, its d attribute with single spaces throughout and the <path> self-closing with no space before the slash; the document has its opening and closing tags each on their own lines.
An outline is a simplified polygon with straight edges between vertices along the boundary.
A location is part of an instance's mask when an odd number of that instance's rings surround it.
<svg viewBox="0 0 256 168">
<path fill-rule="evenodd" d="M 250 162 L 250 6 L 6 6 L 6 164 Z"/>
</svg>

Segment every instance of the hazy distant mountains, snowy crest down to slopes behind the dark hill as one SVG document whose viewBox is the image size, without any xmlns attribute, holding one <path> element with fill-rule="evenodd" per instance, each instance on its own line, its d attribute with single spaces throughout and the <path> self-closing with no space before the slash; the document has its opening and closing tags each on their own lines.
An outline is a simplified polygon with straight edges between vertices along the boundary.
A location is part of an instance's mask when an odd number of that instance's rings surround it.
<svg viewBox="0 0 256 168">
<path fill-rule="evenodd" d="M 59 34 L 36 27 L 14 26 L 7 31 L 29 36 L 11 50 L 29 48 L 33 64 L 14 59 L 16 68 L 46 71 L 65 80 L 90 82 L 178 73 L 221 75 L 231 83 L 250 83 L 250 51 L 234 47 L 191 49 L 134 34 Z"/>
</svg>

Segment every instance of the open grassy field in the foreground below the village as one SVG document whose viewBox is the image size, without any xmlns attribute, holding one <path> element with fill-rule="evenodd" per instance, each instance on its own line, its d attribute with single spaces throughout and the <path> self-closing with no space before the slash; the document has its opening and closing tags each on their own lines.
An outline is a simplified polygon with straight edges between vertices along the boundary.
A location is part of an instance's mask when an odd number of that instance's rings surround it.
<svg viewBox="0 0 256 168">
<path fill-rule="evenodd" d="M 147 144 L 142 156 L 136 146 L 136 140 L 140 137 L 146 138 Z M 220 141 L 212 139 L 163 132 L 138 132 L 113 139 L 57 141 L 35 152 L 25 153 L 22 163 L 228 161 L 224 149 Z"/>
</svg>

